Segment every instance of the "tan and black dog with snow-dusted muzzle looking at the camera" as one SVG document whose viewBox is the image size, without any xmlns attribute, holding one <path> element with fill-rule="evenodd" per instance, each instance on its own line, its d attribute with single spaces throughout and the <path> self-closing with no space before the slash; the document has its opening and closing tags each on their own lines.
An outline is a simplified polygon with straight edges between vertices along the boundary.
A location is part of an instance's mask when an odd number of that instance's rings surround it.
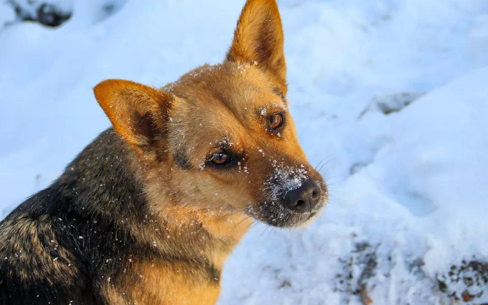
<svg viewBox="0 0 488 305">
<path fill-rule="evenodd" d="M 104 131 L 0 223 L 1 304 L 214 304 L 254 220 L 302 227 L 327 186 L 297 141 L 276 0 L 224 62 L 157 89 L 105 80 Z"/>
</svg>

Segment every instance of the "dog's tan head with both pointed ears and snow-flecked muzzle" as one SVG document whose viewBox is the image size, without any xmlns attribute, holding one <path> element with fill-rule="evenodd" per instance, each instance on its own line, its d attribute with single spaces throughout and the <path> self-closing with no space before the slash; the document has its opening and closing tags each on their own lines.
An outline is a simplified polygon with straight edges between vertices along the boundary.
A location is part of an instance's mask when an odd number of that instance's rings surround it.
<svg viewBox="0 0 488 305">
<path fill-rule="evenodd" d="M 298 143 L 286 93 L 275 0 L 246 3 L 220 65 L 162 89 L 125 80 L 95 87 L 114 130 L 151 173 L 153 194 L 298 227 L 318 215 L 328 195 Z"/>
</svg>

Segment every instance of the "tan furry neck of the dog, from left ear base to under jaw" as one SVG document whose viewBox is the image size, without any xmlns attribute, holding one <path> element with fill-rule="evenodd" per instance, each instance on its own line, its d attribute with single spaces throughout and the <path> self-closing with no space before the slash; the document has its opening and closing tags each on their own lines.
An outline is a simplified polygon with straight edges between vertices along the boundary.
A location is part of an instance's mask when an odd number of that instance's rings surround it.
<svg viewBox="0 0 488 305">
<path fill-rule="evenodd" d="M 230 205 L 212 208 L 194 204 L 192 196 L 182 194 L 172 183 L 174 172 L 171 165 L 164 164 L 164 158 L 141 160 L 136 154 L 130 155 L 130 166 L 142 181 L 146 209 L 154 222 L 154 231 L 140 234 L 149 242 L 159 240 L 179 249 L 198 249 L 200 253 L 194 256 L 203 255 L 221 270 L 254 220 Z"/>
</svg>

